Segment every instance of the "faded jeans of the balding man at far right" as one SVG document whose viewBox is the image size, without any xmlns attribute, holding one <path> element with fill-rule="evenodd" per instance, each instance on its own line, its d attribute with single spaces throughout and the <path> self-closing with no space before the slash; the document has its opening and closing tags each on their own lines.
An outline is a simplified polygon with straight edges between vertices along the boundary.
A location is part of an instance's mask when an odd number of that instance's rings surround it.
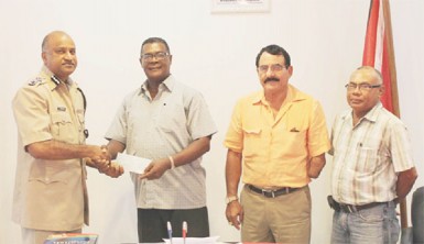
<svg viewBox="0 0 424 244">
<path fill-rule="evenodd" d="M 396 243 L 399 233 L 394 202 L 352 213 L 335 211 L 333 215 L 333 244 Z"/>
</svg>

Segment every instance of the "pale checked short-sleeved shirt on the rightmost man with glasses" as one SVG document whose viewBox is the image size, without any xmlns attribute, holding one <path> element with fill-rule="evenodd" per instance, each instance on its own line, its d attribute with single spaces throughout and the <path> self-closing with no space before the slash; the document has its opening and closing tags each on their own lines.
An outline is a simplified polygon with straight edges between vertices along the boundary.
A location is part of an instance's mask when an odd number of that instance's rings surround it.
<svg viewBox="0 0 424 244">
<path fill-rule="evenodd" d="M 331 193 L 348 204 L 391 201 L 396 173 L 414 166 L 406 127 L 378 103 L 354 126 L 351 110 L 331 130 Z"/>
</svg>

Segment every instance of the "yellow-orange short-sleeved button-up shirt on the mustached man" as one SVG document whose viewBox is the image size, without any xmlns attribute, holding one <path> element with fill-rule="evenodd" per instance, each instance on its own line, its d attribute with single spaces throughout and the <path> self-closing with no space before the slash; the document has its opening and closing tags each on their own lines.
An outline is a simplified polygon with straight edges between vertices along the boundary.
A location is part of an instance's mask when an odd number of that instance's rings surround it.
<svg viewBox="0 0 424 244">
<path fill-rule="evenodd" d="M 242 154 L 242 181 L 259 187 L 303 187 L 306 163 L 330 148 L 318 101 L 289 85 L 274 118 L 263 91 L 240 99 L 224 145 Z"/>
</svg>

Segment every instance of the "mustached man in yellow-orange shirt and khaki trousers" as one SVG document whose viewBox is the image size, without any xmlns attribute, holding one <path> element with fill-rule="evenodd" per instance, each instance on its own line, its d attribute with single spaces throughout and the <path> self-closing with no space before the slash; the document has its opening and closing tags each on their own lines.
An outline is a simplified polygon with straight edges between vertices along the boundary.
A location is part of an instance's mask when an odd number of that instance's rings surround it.
<svg viewBox="0 0 424 244">
<path fill-rule="evenodd" d="M 242 242 L 309 243 L 308 182 L 330 148 L 324 112 L 289 85 L 293 67 L 284 48 L 263 47 L 256 65 L 263 89 L 237 102 L 224 143 L 226 217 L 236 229 L 242 225 Z"/>
</svg>

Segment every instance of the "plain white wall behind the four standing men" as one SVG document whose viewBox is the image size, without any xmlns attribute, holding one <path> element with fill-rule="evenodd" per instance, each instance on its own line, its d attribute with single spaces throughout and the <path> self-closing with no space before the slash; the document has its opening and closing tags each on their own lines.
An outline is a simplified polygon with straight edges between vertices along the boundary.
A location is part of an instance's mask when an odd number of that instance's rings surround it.
<svg viewBox="0 0 424 244">
<path fill-rule="evenodd" d="M 218 126 L 205 156 L 211 235 L 239 241 L 226 222 L 222 140 L 237 98 L 260 89 L 254 69 L 259 49 L 275 43 L 292 56 L 291 82 L 317 98 L 328 126 L 346 109 L 345 89 L 360 65 L 368 0 L 271 0 L 269 13 L 211 14 L 209 0 L 0 0 L 0 243 L 20 243 L 20 229 L 10 221 L 17 154 L 17 130 L 10 109 L 15 90 L 42 65 L 41 41 L 64 30 L 77 44 L 79 66 L 74 74 L 88 98 L 88 143 L 102 135 L 123 96 L 139 87 L 144 75 L 138 57 L 141 42 L 164 37 L 174 55 L 175 77 L 200 90 Z M 418 173 L 424 153 L 424 1 L 392 0 L 401 117 L 410 129 Z M 330 157 L 313 192 L 312 243 L 328 243 L 331 211 Z M 421 176 L 415 186 L 423 186 Z M 134 242 L 135 210 L 128 175 L 110 179 L 90 170 L 91 224 L 101 244 Z M 410 201 L 409 201 L 410 202 Z"/>
</svg>

